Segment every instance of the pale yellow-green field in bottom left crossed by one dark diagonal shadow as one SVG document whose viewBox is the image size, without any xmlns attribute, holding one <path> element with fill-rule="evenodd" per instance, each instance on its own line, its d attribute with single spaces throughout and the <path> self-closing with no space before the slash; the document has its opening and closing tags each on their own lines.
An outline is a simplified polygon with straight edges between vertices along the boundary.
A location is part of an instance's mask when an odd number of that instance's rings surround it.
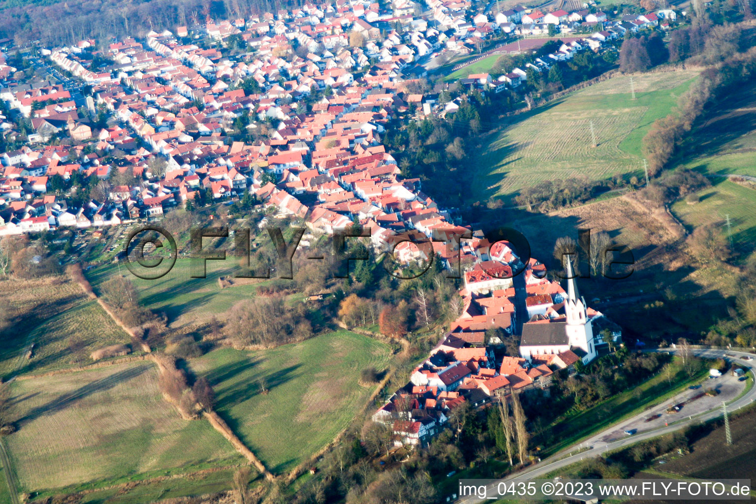
<svg viewBox="0 0 756 504">
<path fill-rule="evenodd" d="M 208 422 L 163 400 L 150 362 L 17 380 L 12 391 L 19 429 L 6 442 L 21 490 L 241 461 Z"/>
</svg>

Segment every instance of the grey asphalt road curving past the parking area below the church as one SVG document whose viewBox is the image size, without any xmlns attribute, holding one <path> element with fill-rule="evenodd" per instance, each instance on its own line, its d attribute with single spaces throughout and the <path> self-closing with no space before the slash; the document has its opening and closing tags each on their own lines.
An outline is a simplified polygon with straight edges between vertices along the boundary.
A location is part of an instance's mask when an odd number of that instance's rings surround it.
<svg viewBox="0 0 756 504">
<path fill-rule="evenodd" d="M 663 349 L 660 351 L 669 351 L 671 353 L 674 353 L 674 350 L 671 349 Z M 695 354 L 697 357 L 706 357 L 710 359 L 716 359 L 719 357 L 725 357 L 725 354 L 728 356 L 735 356 L 735 357 L 727 357 L 733 362 L 737 362 L 739 364 L 742 364 L 743 366 L 750 367 L 752 363 L 756 362 L 754 360 L 746 361 L 743 360 L 742 357 L 750 356 L 752 359 L 754 358 L 751 354 L 746 354 L 745 352 L 738 352 L 738 351 L 729 351 L 729 350 L 712 350 L 708 348 L 698 348 L 691 351 L 692 354 Z M 749 379 L 754 379 L 754 372 L 751 370 L 748 373 Z M 748 404 L 751 404 L 756 400 L 756 387 L 752 387 L 751 390 L 749 390 L 746 394 L 743 394 L 742 397 L 739 397 L 736 400 L 733 400 L 730 404 L 727 405 L 728 411 L 735 411 L 739 408 L 742 408 L 744 406 L 747 406 Z M 689 419 L 688 417 L 685 417 L 684 419 L 681 419 L 678 422 L 675 422 L 671 425 L 660 427 L 660 428 L 653 428 L 649 431 L 642 431 L 639 432 L 633 436 L 628 436 L 627 438 L 619 439 L 618 441 L 600 441 L 601 438 L 605 438 L 609 434 L 612 434 L 612 432 L 616 431 L 617 425 L 612 425 L 612 427 L 606 428 L 605 430 L 594 434 L 591 436 L 590 439 L 587 439 L 586 441 L 582 441 L 579 444 L 576 444 L 572 448 L 568 450 L 562 450 L 560 453 L 556 453 L 556 455 L 550 456 L 547 459 L 542 460 L 541 462 L 538 462 L 538 464 L 531 465 L 528 468 L 525 468 L 524 470 L 520 472 L 516 472 L 513 475 L 507 476 L 507 478 L 501 478 L 499 480 L 494 481 L 491 485 L 488 487 L 488 495 L 496 495 L 496 486 L 502 481 L 507 481 L 508 483 L 512 482 L 519 482 L 519 481 L 530 481 L 534 478 L 540 478 L 543 475 L 547 475 L 550 472 L 556 471 L 559 468 L 566 467 L 567 465 L 572 465 L 575 462 L 579 462 L 582 459 L 586 458 L 593 458 L 596 456 L 600 456 L 603 453 L 610 451 L 610 450 L 616 450 L 618 448 L 627 446 L 629 444 L 635 444 L 638 441 L 643 441 L 644 439 L 649 438 L 655 438 L 662 434 L 667 434 L 668 432 L 674 432 L 677 430 L 680 430 L 681 428 L 685 427 L 686 425 L 690 425 L 694 422 L 705 422 L 706 420 L 711 420 L 714 418 L 717 418 L 717 416 L 720 416 L 722 414 L 721 410 L 721 404 L 718 404 L 717 407 L 714 407 L 711 410 L 708 410 L 705 413 L 700 413 L 699 415 L 693 416 L 692 419 Z M 625 419 L 622 421 L 622 423 L 629 423 L 634 422 L 638 419 L 643 418 L 644 416 L 647 416 L 648 412 L 643 411 L 642 413 L 639 413 L 637 416 L 632 417 L 631 419 Z M 585 447 L 588 447 L 587 450 L 582 451 L 581 453 L 575 453 L 575 455 L 572 456 L 564 456 L 565 452 L 569 452 L 569 450 L 579 450 Z M 560 458 L 562 457 L 562 458 Z M 468 496 L 465 499 L 458 499 L 457 502 L 464 503 L 464 504 L 476 504 L 477 502 L 485 502 L 486 499 L 480 499 L 475 496 Z"/>
</svg>

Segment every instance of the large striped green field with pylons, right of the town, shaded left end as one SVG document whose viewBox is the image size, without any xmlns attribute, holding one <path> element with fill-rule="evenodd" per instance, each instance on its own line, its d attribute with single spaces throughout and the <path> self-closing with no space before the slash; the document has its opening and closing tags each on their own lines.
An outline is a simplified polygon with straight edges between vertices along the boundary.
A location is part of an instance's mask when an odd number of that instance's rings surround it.
<svg viewBox="0 0 756 504">
<path fill-rule="evenodd" d="M 693 71 L 615 76 L 510 119 L 482 138 L 473 200 L 513 197 L 545 180 L 641 175 L 641 139 L 697 76 Z M 591 123 L 597 147 L 592 147 Z"/>
</svg>

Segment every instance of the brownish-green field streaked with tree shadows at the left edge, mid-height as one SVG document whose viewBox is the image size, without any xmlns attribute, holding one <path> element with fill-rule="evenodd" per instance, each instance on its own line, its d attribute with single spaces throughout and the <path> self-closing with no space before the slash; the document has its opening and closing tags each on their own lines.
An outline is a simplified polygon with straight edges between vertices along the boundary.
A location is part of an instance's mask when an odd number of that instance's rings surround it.
<svg viewBox="0 0 756 504">
<path fill-rule="evenodd" d="M 67 277 L 2 280 L 0 293 L 8 319 L 2 331 L 0 376 L 89 363 L 91 351 L 129 342 L 100 305 Z"/>
</svg>

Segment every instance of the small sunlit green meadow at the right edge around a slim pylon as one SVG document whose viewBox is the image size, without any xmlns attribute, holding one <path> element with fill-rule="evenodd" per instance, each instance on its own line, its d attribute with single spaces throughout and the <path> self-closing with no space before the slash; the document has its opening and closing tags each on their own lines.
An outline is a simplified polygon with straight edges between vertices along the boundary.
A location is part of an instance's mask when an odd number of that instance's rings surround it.
<svg viewBox="0 0 756 504">
<path fill-rule="evenodd" d="M 730 215 L 736 250 L 753 250 L 756 240 L 756 190 L 718 178 L 712 187 L 700 191 L 699 196 L 701 200 L 695 205 L 678 201 L 672 206 L 672 212 L 689 229 L 721 224 Z"/>
</svg>

